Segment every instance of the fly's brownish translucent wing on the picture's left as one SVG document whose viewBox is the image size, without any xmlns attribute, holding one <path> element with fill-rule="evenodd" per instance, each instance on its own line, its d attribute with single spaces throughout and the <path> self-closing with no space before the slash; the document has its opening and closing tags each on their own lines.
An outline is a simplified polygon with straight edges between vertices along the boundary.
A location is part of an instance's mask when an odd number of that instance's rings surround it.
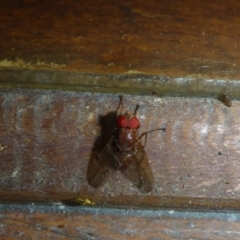
<svg viewBox="0 0 240 240">
<path fill-rule="evenodd" d="M 89 184 L 94 188 L 98 188 L 106 180 L 109 174 L 109 162 L 113 158 L 112 142 L 113 137 L 110 138 L 99 158 L 97 156 L 97 152 L 93 151 L 92 153 L 90 159 L 91 166 L 87 174 L 87 180 Z"/>
</svg>

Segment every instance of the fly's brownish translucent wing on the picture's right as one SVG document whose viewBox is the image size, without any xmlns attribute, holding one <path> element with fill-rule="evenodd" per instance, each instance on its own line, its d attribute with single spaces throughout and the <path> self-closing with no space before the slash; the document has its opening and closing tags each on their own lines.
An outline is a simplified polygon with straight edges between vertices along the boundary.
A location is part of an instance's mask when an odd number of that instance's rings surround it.
<svg viewBox="0 0 240 240">
<path fill-rule="evenodd" d="M 124 176 L 142 192 L 151 192 L 154 179 L 147 154 L 141 142 L 137 143 L 137 151 L 127 155 L 122 161 L 127 165 L 126 169 L 122 170 Z"/>
</svg>

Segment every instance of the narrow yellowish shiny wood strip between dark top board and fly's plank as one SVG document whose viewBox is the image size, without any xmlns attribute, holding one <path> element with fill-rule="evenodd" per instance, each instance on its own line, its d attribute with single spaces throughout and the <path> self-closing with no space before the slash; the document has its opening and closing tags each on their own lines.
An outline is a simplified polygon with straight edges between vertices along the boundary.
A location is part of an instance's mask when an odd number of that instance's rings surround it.
<svg viewBox="0 0 240 240">
<path fill-rule="evenodd" d="M 240 99 L 238 79 L 208 79 L 202 76 L 171 78 L 144 74 L 89 74 L 63 71 L 1 70 L 0 88 L 72 90 L 94 93 L 155 95 L 159 97 L 219 98 L 225 92 Z"/>
</svg>

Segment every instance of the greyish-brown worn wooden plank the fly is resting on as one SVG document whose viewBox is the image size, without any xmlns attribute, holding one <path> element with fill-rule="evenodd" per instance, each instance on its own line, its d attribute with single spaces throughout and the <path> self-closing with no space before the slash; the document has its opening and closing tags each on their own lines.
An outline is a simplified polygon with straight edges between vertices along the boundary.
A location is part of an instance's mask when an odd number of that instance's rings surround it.
<svg viewBox="0 0 240 240">
<path fill-rule="evenodd" d="M 86 175 L 94 142 L 107 126 L 118 96 L 16 90 L 0 93 L 0 198 L 63 201 L 77 196 L 98 205 L 239 209 L 239 102 L 124 95 L 126 110 L 139 103 L 139 132 L 155 178 L 150 194 L 120 172 L 94 189 Z M 105 129 L 106 130 L 106 129 Z M 104 131 L 103 145 L 109 130 Z"/>
</svg>

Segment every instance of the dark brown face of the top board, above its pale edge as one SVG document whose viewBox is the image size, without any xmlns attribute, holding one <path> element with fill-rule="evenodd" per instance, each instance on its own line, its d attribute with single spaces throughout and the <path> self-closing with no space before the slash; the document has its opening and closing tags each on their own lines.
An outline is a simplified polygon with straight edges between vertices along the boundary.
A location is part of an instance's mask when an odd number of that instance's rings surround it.
<svg viewBox="0 0 240 240">
<path fill-rule="evenodd" d="M 1 10 L 2 68 L 239 80 L 237 0 L 20 0 Z"/>
</svg>

